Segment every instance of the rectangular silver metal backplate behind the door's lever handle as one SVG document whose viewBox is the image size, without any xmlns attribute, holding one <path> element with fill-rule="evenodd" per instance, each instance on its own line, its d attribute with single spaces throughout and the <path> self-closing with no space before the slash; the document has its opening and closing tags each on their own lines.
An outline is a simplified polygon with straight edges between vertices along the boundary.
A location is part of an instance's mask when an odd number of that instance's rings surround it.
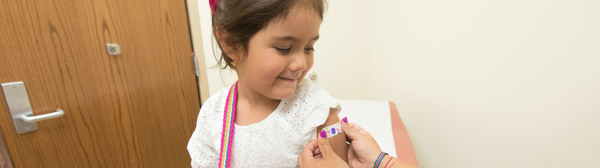
<svg viewBox="0 0 600 168">
<path fill-rule="evenodd" d="M 11 116 L 13 117 L 13 123 L 17 130 L 17 134 L 37 130 L 37 124 L 35 124 L 35 122 L 25 122 L 21 119 L 23 115 L 34 115 L 34 112 L 31 109 L 31 103 L 29 103 L 27 91 L 25 90 L 25 84 L 23 82 L 2 83 L 2 92 L 4 92 L 8 110 L 10 110 Z"/>
</svg>

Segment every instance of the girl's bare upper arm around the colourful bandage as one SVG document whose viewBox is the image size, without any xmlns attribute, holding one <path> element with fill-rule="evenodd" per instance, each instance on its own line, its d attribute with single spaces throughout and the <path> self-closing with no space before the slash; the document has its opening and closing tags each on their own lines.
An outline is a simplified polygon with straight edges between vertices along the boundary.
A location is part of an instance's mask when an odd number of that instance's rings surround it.
<svg viewBox="0 0 600 168">
<path fill-rule="evenodd" d="M 329 109 L 329 116 L 325 121 L 325 124 L 317 127 L 317 135 L 321 132 L 321 130 L 323 130 L 323 128 L 328 127 L 329 125 L 334 125 L 336 122 L 340 122 L 340 118 L 338 117 L 336 110 Z M 329 143 L 331 143 L 331 148 L 334 150 L 335 154 L 348 163 L 348 144 L 346 143 L 346 134 L 341 132 L 337 136 L 331 137 L 329 139 Z"/>
</svg>

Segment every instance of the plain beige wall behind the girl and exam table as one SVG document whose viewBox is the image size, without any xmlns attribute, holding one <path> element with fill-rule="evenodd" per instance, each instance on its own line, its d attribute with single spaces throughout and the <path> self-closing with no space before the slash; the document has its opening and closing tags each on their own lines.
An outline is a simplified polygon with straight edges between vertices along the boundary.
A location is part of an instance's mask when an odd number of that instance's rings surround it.
<svg viewBox="0 0 600 168">
<path fill-rule="evenodd" d="M 394 101 L 422 167 L 600 167 L 598 9 L 331 0 L 313 70 L 334 97 Z"/>
</svg>

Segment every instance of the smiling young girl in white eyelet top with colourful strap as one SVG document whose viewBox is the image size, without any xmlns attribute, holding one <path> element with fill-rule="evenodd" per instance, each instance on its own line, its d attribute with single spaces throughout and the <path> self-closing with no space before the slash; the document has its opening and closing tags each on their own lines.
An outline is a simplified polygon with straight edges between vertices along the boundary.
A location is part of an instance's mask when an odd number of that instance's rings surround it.
<svg viewBox="0 0 600 168">
<path fill-rule="evenodd" d="M 325 0 L 210 1 L 219 65 L 238 74 L 203 104 L 187 149 L 192 167 L 298 167 L 302 148 L 341 107 L 304 76 Z M 347 161 L 346 136 L 331 137 Z"/>
</svg>

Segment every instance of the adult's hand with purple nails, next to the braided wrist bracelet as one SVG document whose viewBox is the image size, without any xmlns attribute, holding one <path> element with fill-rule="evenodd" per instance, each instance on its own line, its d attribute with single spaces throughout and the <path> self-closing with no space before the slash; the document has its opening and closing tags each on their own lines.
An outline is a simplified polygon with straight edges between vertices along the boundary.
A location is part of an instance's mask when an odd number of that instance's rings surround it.
<svg viewBox="0 0 600 168">
<path fill-rule="evenodd" d="M 373 136 L 358 124 L 348 123 L 348 119 L 345 117 L 342 121 L 342 130 L 346 133 L 347 142 L 350 142 L 348 148 L 350 167 L 373 167 L 375 160 L 382 152 Z"/>
</svg>

